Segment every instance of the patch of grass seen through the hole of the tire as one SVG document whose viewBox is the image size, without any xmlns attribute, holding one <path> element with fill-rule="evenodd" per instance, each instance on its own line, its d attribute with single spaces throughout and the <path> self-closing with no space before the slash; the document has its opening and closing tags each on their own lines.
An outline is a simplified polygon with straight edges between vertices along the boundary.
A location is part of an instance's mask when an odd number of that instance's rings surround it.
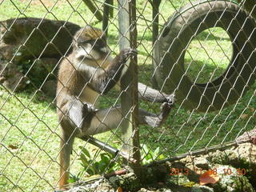
<svg viewBox="0 0 256 192">
<path fill-rule="evenodd" d="M 186 74 L 192 82 L 214 81 L 225 72 L 231 56 L 232 44 L 226 31 L 210 28 L 190 43 L 185 55 Z"/>
</svg>

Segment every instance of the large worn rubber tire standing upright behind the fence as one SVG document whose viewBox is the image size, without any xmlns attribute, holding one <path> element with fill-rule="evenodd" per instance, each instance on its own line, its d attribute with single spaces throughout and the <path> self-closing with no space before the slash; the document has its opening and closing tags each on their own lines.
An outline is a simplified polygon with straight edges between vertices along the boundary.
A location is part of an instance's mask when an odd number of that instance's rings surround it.
<svg viewBox="0 0 256 192">
<path fill-rule="evenodd" d="M 177 102 L 188 110 L 220 110 L 237 102 L 255 80 L 254 18 L 229 1 L 194 2 L 178 13 L 168 19 L 154 47 L 158 86 L 166 93 L 174 92 Z M 230 65 L 213 82 L 191 82 L 184 67 L 186 48 L 197 34 L 214 26 L 222 27 L 230 36 Z"/>
</svg>

